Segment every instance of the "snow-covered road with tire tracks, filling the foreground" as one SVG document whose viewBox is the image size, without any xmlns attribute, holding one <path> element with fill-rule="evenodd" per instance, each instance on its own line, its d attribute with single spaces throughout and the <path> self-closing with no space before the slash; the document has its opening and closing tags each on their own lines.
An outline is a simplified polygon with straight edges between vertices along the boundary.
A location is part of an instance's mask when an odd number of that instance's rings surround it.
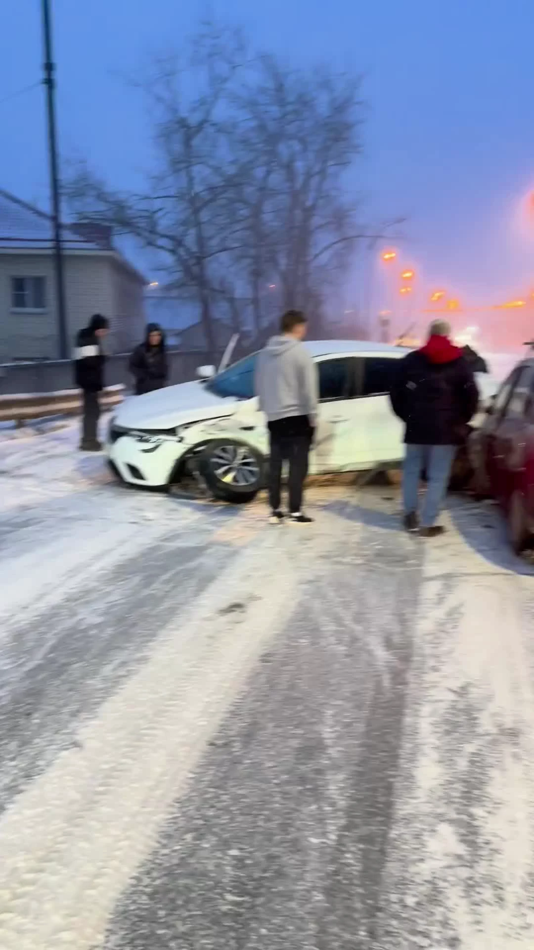
<svg viewBox="0 0 534 950">
<path fill-rule="evenodd" d="M 531 950 L 534 576 L 0 442 L 2 950 Z"/>
</svg>

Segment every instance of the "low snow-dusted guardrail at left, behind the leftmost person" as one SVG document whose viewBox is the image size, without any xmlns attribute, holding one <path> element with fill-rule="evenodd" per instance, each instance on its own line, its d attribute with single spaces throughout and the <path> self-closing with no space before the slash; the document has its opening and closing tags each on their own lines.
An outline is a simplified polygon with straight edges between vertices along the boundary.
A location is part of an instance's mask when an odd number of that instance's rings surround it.
<svg viewBox="0 0 534 950">
<path fill-rule="evenodd" d="M 123 402 L 125 387 L 108 386 L 100 394 L 102 409 L 111 409 Z M 46 419 L 48 416 L 79 415 L 82 411 L 81 390 L 58 392 L 26 392 L 22 395 L 0 395 L 0 422 L 15 422 L 19 425 L 31 419 Z"/>
</svg>

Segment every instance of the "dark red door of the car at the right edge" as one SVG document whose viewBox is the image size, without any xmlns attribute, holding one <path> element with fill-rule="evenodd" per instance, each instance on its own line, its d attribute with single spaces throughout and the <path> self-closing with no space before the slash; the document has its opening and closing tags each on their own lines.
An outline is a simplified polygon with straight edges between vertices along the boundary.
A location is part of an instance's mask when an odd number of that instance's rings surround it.
<svg viewBox="0 0 534 950">
<path fill-rule="evenodd" d="M 517 486 L 518 475 L 524 469 L 526 411 L 530 404 L 533 375 L 532 367 L 520 368 L 491 439 L 493 482 L 497 497 L 504 503 Z"/>
</svg>

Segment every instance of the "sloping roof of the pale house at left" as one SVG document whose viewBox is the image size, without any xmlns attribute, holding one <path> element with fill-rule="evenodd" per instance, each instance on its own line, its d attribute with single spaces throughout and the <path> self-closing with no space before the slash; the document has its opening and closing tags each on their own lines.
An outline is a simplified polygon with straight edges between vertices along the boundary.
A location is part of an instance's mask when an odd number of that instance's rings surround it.
<svg viewBox="0 0 534 950">
<path fill-rule="evenodd" d="M 147 282 L 117 250 L 103 247 L 102 242 L 88 240 L 75 228 L 76 225 L 70 227 L 62 224 L 64 251 L 92 252 L 114 257 L 142 283 Z M 53 220 L 49 215 L 0 188 L 0 251 L 51 251 L 53 239 Z"/>
</svg>

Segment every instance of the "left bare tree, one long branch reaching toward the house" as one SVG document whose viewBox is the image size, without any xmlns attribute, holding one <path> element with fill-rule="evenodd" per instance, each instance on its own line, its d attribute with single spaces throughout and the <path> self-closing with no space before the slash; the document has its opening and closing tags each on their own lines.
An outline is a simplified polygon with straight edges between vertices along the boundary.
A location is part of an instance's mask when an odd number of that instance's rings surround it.
<svg viewBox="0 0 534 950">
<path fill-rule="evenodd" d="M 86 165 L 76 168 L 66 187 L 78 217 L 105 219 L 161 253 L 173 288 L 198 302 L 212 354 L 212 300 L 217 276 L 224 272 L 221 258 L 235 253 L 241 239 L 228 217 L 235 175 L 229 157 L 235 123 L 229 89 L 245 62 L 238 31 L 203 26 L 188 56 L 157 60 L 142 84 L 154 145 L 154 171 L 143 194 L 107 186 Z M 193 96 L 184 91 L 187 85 L 195 88 Z"/>
</svg>

